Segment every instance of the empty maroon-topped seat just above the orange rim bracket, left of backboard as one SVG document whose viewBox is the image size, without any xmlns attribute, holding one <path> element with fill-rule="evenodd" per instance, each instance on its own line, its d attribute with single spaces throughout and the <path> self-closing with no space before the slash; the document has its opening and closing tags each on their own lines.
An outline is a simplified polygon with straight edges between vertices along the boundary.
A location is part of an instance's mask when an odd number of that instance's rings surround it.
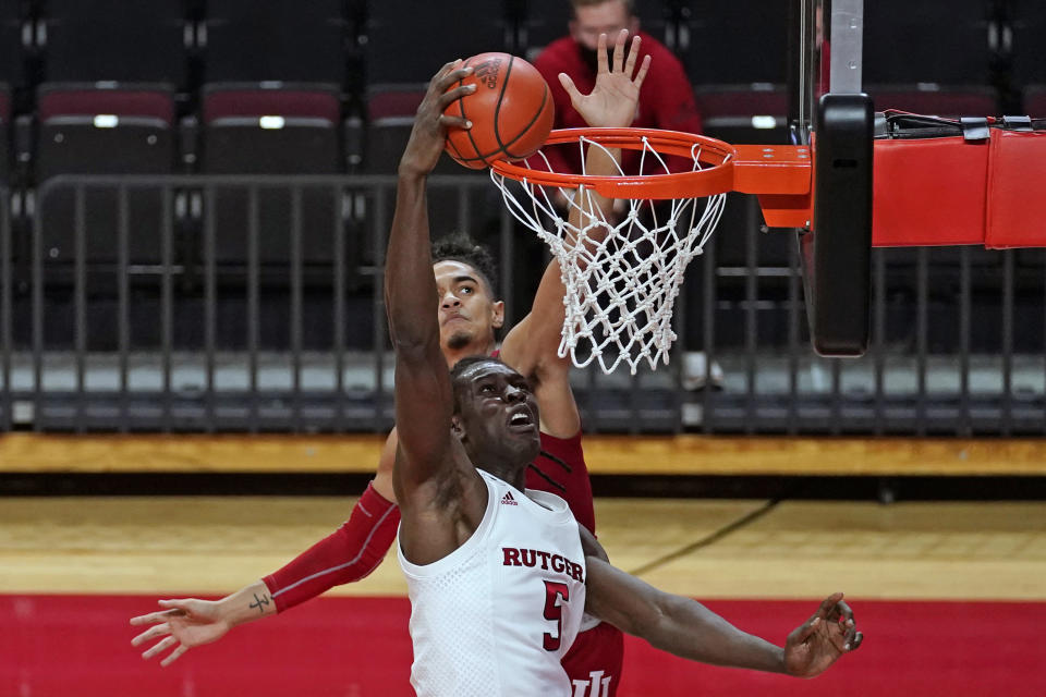
<svg viewBox="0 0 1046 697">
<path fill-rule="evenodd" d="M 788 143 L 788 91 L 783 85 L 703 85 L 694 90 L 706 135 L 727 143 Z"/>
</svg>

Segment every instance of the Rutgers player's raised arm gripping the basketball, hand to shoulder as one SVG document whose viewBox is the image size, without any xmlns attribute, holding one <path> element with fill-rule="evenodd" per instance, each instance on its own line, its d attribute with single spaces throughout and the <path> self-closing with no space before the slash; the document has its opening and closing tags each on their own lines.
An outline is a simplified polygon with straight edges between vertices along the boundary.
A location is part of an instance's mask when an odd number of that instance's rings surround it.
<svg viewBox="0 0 1046 697">
<path fill-rule="evenodd" d="M 396 212 L 386 257 L 386 307 L 396 350 L 396 423 L 399 450 L 392 472 L 400 504 L 400 551 L 415 564 L 442 559 L 475 530 L 487 488 L 451 435 L 453 392 L 439 345 L 439 295 L 433 274 L 425 182 L 436 167 L 448 127 L 471 123 L 443 112 L 475 90 L 460 81 L 472 72 L 454 61 L 428 85 L 400 160 Z M 459 83 L 459 86 L 454 86 Z"/>
</svg>

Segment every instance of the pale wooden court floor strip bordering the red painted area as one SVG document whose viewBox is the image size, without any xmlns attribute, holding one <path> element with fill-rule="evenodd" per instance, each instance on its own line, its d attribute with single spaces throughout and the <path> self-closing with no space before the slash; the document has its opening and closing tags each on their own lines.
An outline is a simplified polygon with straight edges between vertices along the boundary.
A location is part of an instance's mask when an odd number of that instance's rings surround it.
<svg viewBox="0 0 1046 697">
<path fill-rule="evenodd" d="M 0 592 L 226 594 L 329 534 L 351 498 L 0 499 Z M 624 570 L 696 598 L 1046 600 L 1046 504 L 604 499 Z M 390 552 L 393 554 L 394 552 Z M 405 595 L 387 559 L 331 592 Z"/>
</svg>

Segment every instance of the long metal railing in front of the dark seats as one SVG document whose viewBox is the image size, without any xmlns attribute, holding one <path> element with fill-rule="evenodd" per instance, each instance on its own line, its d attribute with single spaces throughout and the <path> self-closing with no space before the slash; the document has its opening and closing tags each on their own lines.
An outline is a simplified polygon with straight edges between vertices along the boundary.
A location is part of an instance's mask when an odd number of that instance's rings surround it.
<svg viewBox="0 0 1046 697">
<path fill-rule="evenodd" d="M 0 430 L 389 428 L 394 186 L 63 176 L 20 215 L 2 192 Z M 546 260 L 538 243 L 483 176 L 434 176 L 429 199 L 435 233 L 496 248 L 509 323 L 520 319 Z M 825 359 L 807 341 L 792 234 L 762 234 L 751 197 L 728 207 L 689 271 L 671 365 L 575 371 L 587 430 L 1046 431 L 1041 250 L 877 249 L 872 348 Z"/>
</svg>

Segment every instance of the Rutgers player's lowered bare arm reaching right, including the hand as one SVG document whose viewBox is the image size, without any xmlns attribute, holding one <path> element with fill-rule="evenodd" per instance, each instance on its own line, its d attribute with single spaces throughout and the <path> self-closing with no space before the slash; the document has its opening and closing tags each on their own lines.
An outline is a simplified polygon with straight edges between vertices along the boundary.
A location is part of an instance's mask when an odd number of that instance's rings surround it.
<svg viewBox="0 0 1046 697">
<path fill-rule="evenodd" d="M 692 661 L 814 677 L 864 638 L 841 592 L 822 602 L 781 648 L 742 632 L 695 600 L 658 590 L 596 557 L 586 557 L 585 563 L 586 612 Z"/>
</svg>

